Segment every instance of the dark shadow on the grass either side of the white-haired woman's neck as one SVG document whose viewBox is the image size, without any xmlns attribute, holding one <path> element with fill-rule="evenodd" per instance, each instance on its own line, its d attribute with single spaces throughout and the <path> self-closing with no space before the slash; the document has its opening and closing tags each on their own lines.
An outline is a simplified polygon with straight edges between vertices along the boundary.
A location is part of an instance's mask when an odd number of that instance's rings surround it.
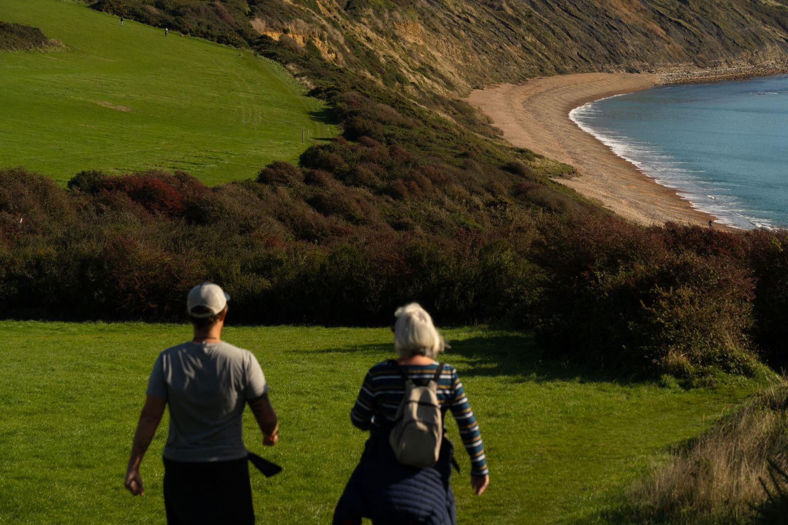
<svg viewBox="0 0 788 525">
<path fill-rule="evenodd" d="M 543 383 L 548 381 L 578 381 L 579 383 L 613 382 L 619 384 L 633 383 L 614 375 L 594 372 L 571 364 L 565 360 L 557 360 L 539 348 L 533 340 L 533 334 L 522 332 L 512 335 L 491 335 L 489 337 L 467 338 L 450 341 L 452 347 L 446 351 L 442 360 L 452 364 L 452 357 L 461 356 L 463 364 L 459 365 L 463 377 L 514 377 L 516 381 Z M 345 346 L 318 350 L 296 350 L 297 353 L 370 353 L 370 357 L 384 354 L 386 358 L 395 357 L 391 343 Z M 370 362 L 370 366 L 373 363 Z"/>
</svg>

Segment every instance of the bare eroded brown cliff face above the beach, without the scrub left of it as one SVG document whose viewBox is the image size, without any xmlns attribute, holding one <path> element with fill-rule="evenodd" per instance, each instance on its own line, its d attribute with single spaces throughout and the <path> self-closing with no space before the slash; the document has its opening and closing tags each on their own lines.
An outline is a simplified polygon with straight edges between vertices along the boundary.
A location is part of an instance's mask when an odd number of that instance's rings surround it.
<svg viewBox="0 0 788 525">
<path fill-rule="evenodd" d="M 350 19 L 414 81 L 433 69 L 433 80 L 464 91 L 563 72 L 784 61 L 786 13 L 744 0 L 412 0 Z"/>
</svg>

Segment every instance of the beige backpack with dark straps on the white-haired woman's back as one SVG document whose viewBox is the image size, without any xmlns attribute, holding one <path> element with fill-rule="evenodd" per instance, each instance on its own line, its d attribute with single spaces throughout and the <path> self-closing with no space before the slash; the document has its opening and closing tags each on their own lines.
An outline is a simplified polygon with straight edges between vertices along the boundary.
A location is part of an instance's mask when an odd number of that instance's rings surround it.
<svg viewBox="0 0 788 525">
<path fill-rule="evenodd" d="M 394 417 L 394 427 L 388 442 L 401 464 L 411 467 L 434 467 L 443 439 L 443 414 L 438 401 L 438 381 L 443 363 L 438 363 L 433 379 L 417 385 L 396 360 L 390 363 L 405 380 L 405 397 Z"/>
</svg>

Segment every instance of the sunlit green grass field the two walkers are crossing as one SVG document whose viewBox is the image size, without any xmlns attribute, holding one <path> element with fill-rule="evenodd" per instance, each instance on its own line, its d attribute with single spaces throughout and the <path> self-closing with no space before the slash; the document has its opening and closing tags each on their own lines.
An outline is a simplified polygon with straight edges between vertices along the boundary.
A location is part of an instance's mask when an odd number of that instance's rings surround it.
<svg viewBox="0 0 788 525">
<path fill-rule="evenodd" d="M 0 333 L 0 522 L 164 523 L 165 421 L 143 463 L 147 494 L 132 497 L 122 479 L 154 358 L 190 329 L 4 321 Z M 458 450 L 459 523 L 588 523 L 667 446 L 701 433 L 759 386 L 622 383 L 552 363 L 528 333 L 444 335 L 492 479 L 472 496 Z M 348 412 L 366 369 L 392 356 L 391 331 L 229 327 L 224 338 L 257 355 L 281 418 L 279 445 L 263 449 L 246 414 L 247 447 L 284 466 L 272 479 L 252 472 L 259 523 L 329 523 L 365 439 Z M 453 421 L 448 431 L 459 443 Z"/>
</svg>

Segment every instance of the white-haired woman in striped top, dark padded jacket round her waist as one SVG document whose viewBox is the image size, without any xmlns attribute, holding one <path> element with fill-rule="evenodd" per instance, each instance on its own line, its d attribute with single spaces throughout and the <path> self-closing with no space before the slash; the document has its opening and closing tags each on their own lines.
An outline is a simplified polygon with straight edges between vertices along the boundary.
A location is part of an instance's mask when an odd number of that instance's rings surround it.
<svg viewBox="0 0 788 525">
<path fill-rule="evenodd" d="M 475 493 L 483 493 L 489 483 L 481 434 L 463 383 L 459 382 L 454 367 L 435 360 L 446 347 L 444 339 L 429 313 L 417 303 L 397 309 L 394 315 L 396 324 L 392 329 L 398 358 L 370 368 L 351 410 L 351 423 L 361 430 L 369 430 L 370 438 L 336 505 L 334 525 L 355 525 L 362 518 L 372 519 L 374 525 L 456 523 L 449 476 L 452 464 L 458 471 L 459 468 L 453 458 L 452 442 L 441 435 L 437 462 L 421 468 L 403 464 L 400 451 L 392 449 L 399 437 L 397 425 L 403 417 L 400 405 L 406 405 L 403 398 L 411 396 L 417 383 L 435 382 L 432 388 L 437 393 L 440 408 L 437 417 L 441 421 L 447 410 L 452 411 L 470 456 L 470 484 Z M 422 401 L 414 402 L 417 405 L 414 410 L 424 405 Z M 440 428 L 442 433 L 442 424 Z M 427 451 L 428 457 L 430 452 Z"/>
</svg>

